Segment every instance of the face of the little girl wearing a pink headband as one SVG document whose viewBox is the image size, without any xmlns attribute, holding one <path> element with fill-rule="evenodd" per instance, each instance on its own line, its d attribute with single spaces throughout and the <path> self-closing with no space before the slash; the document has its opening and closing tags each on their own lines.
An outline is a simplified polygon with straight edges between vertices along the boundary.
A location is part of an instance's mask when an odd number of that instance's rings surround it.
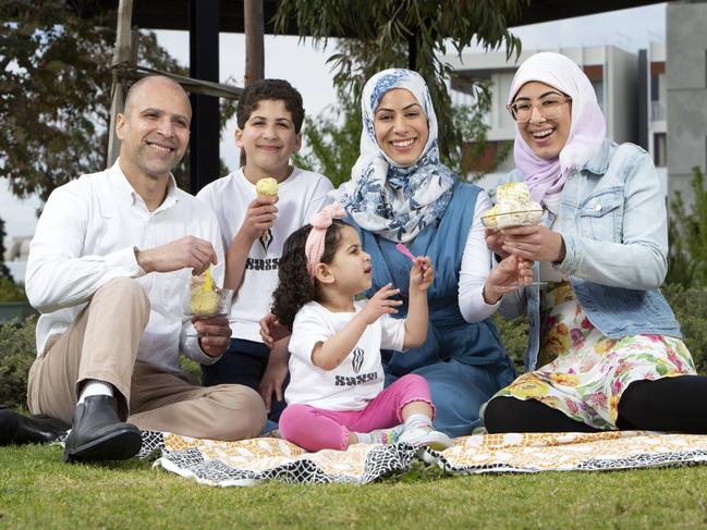
<svg viewBox="0 0 707 530">
<path fill-rule="evenodd" d="M 370 256 L 363 250 L 358 233 L 352 226 L 341 227 L 339 246 L 327 268 L 333 285 L 342 295 L 353 297 L 370 288 Z"/>
</svg>

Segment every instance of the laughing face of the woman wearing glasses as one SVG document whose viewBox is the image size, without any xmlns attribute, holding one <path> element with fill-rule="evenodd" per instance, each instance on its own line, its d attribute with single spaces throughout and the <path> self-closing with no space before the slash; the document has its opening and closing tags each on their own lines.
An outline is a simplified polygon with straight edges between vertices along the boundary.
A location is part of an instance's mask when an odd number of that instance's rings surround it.
<svg viewBox="0 0 707 530">
<path fill-rule="evenodd" d="M 523 85 L 513 100 L 514 103 L 527 102 L 533 106 L 531 120 L 519 123 L 517 128 L 533 152 L 546 160 L 558 157 L 568 143 L 572 127 L 572 103 L 562 103 L 559 108 L 560 114 L 553 119 L 545 118 L 538 108 L 543 108 L 540 102 L 547 98 L 557 99 L 563 96 L 557 88 L 533 81 Z"/>
</svg>

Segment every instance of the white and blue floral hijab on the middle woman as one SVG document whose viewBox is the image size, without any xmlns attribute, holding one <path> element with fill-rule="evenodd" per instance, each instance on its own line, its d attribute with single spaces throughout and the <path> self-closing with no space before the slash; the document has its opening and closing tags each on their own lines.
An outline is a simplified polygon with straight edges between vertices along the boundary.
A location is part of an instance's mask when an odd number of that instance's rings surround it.
<svg viewBox="0 0 707 530">
<path fill-rule="evenodd" d="M 415 96 L 427 118 L 427 144 L 419 159 L 405 168 L 386 156 L 374 131 L 376 108 L 393 88 L 404 88 Z M 361 108 L 361 156 L 351 170 L 351 180 L 330 195 L 362 229 L 392 242 L 407 243 L 442 218 L 456 182 L 456 175 L 439 161 L 437 116 L 429 90 L 416 72 L 383 70 L 366 83 Z"/>
</svg>

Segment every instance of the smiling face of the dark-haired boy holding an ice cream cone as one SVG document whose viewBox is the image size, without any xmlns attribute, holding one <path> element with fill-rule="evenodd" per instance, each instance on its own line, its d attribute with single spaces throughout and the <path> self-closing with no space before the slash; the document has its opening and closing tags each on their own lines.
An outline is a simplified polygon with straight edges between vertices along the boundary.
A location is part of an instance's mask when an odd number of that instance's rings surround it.
<svg viewBox="0 0 707 530">
<path fill-rule="evenodd" d="M 282 182 L 290 175 L 290 156 L 300 150 L 292 113 L 280 99 L 263 99 L 235 131 L 235 145 L 245 150 L 245 175 L 252 182 L 271 176 Z"/>
</svg>

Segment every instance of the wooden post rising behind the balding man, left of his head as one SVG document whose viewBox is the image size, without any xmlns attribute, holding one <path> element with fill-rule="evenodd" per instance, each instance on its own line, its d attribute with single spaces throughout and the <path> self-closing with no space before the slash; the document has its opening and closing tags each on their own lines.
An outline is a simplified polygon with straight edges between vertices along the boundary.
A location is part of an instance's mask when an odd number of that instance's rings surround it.
<svg viewBox="0 0 707 530">
<path fill-rule="evenodd" d="M 133 16 L 133 0 L 120 0 L 118 7 L 118 32 L 115 35 L 115 53 L 113 54 L 113 67 L 119 64 L 130 63 L 134 54 L 132 52 L 133 36 L 131 21 Z M 120 155 L 120 140 L 115 135 L 115 119 L 123 112 L 125 107 L 125 79 L 113 69 L 113 84 L 111 89 L 110 125 L 108 128 L 108 157 L 107 168 L 113 165 Z"/>
</svg>

